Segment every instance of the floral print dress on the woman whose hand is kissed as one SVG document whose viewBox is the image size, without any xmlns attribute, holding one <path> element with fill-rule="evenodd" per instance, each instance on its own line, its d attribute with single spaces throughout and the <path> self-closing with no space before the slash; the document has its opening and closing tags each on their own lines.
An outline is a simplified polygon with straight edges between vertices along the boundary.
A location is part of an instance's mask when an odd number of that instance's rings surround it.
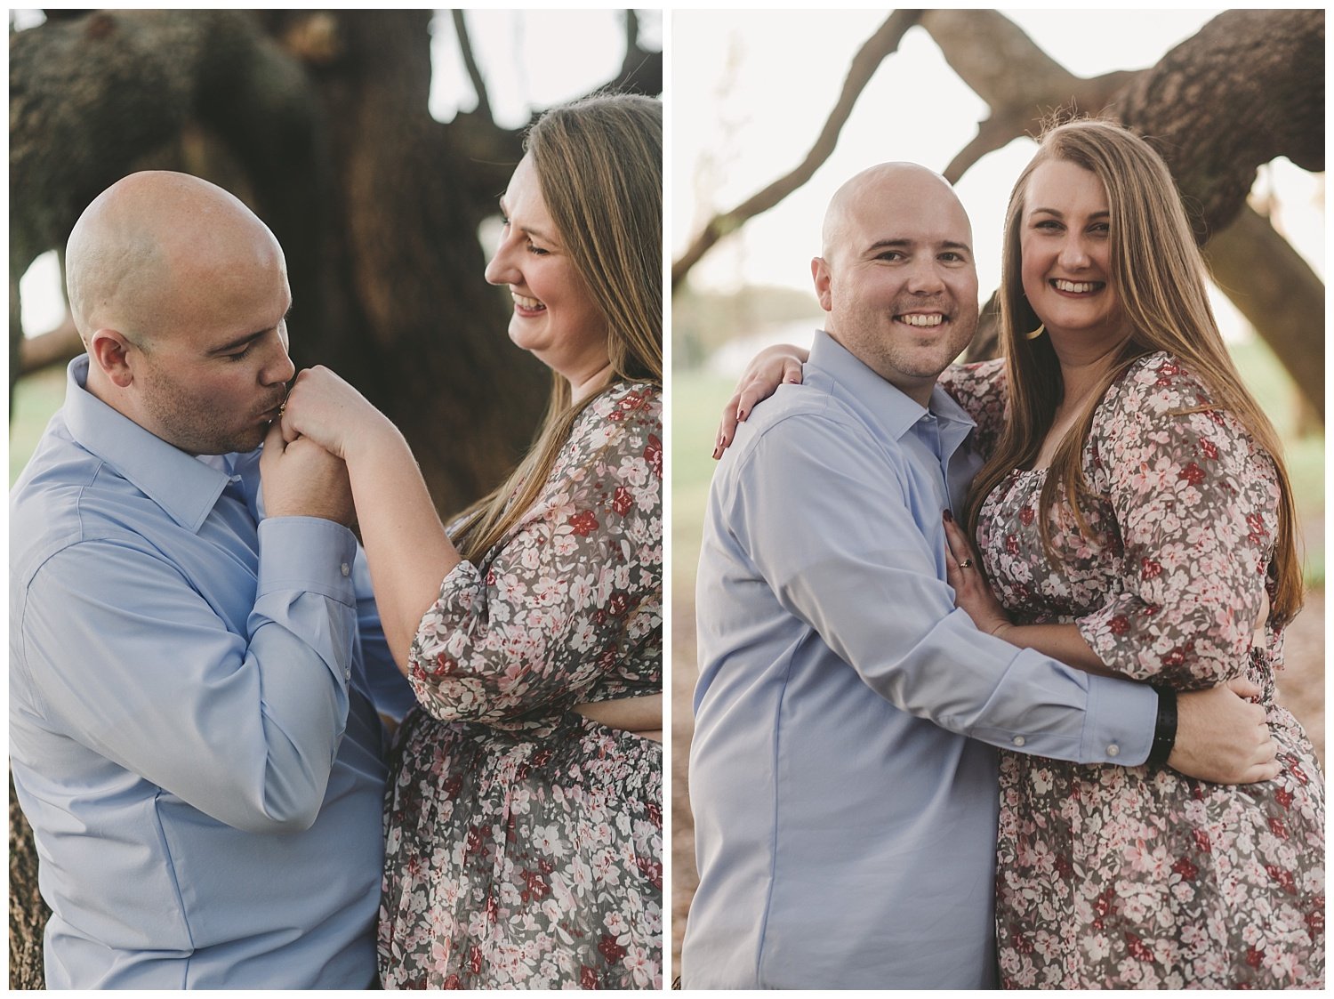
<svg viewBox="0 0 1334 999">
<path fill-rule="evenodd" d="M 571 711 L 662 691 L 662 475 L 659 389 L 608 389 L 423 618 L 386 803 L 386 988 L 662 987 L 662 747 Z"/>
</svg>

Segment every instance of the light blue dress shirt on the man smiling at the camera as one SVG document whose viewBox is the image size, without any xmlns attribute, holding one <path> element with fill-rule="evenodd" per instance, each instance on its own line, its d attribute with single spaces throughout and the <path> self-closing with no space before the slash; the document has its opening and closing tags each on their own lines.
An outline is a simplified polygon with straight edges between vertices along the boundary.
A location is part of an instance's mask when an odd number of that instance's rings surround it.
<svg viewBox="0 0 1334 999">
<path fill-rule="evenodd" d="M 1142 763 L 1157 695 L 974 628 L 940 512 L 979 463 L 824 332 L 738 431 L 699 559 L 687 988 L 994 986 L 996 755 Z"/>
</svg>

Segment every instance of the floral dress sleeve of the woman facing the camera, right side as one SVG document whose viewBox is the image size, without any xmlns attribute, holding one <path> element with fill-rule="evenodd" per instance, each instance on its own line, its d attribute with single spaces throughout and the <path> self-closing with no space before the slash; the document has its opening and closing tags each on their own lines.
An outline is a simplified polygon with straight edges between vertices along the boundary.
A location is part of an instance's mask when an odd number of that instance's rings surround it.
<svg viewBox="0 0 1334 999">
<path fill-rule="evenodd" d="M 1113 388 L 1093 477 L 1115 511 L 1122 592 L 1077 620 L 1113 670 L 1182 690 L 1245 672 L 1277 536 L 1273 465 L 1170 360 Z"/>
</svg>

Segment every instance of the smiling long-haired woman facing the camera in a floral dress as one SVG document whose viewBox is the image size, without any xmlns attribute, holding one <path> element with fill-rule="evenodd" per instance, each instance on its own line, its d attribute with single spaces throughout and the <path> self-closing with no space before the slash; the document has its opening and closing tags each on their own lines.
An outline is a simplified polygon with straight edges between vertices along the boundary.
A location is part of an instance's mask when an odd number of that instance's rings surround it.
<svg viewBox="0 0 1334 999">
<path fill-rule="evenodd" d="M 1317 986 L 1322 776 L 1274 703 L 1302 602 L 1291 485 L 1143 139 L 1105 121 L 1046 133 L 1006 217 L 1002 349 L 947 376 L 995 435 L 967 526 L 1000 606 L 951 528 L 959 604 L 998 638 L 1151 683 L 1169 703 L 1247 676 L 1282 763 L 1273 782 L 1223 787 L 1153 755 L 1099 767 L 1003 754 L 1005 983 Z"/>
</svg>

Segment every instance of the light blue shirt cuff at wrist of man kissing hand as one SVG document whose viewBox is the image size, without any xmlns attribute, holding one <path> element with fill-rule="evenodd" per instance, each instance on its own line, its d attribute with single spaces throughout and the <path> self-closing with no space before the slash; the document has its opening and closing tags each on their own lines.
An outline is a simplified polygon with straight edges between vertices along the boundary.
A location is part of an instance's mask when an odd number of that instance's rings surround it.
<svg viewBox="0 0 1334 999">
<path fill-rule="evenodd" d="M 300 590 L 356 606 L 356 538 L 324 518 L 269 518 L 259 524 L 255 596 Z"/>
</svg>

